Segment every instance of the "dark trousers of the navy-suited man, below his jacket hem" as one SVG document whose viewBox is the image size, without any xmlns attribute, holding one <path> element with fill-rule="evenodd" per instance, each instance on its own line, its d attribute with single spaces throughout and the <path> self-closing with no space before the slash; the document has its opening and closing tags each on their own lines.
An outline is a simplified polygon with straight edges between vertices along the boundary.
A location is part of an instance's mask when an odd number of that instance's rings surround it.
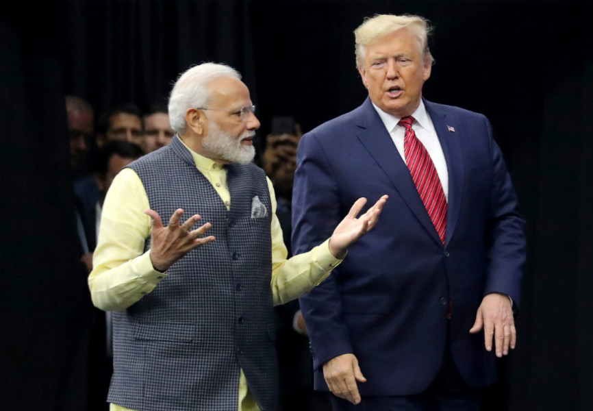
<svg viewBox="0 0 593 411">
<path fill-rule="evenodd" d="M 334 411 L 479 411 L 481 391 L 466 385 L 457 372 L 451 352 L 446 349 L 438 375 L 424 393 L 362 396 L 357 406 L 331 395 L 331 405 Z"/>
</svg>

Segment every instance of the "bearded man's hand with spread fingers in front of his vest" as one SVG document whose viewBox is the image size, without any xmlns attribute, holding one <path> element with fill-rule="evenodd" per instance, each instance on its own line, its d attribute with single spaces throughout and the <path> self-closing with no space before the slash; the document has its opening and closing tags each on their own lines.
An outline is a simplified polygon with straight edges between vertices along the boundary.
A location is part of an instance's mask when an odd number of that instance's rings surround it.
<svg viewBox="0 0 593 411">
<path fill-rule="evenodd" d="M 199 238 L 199 236 L 212 227 L 211 223 L 205 223 L 198 229 L 190 231 L 194 224 L 201 219 L 198 214 L 191 216 L 188 221 L 179 225 L 184 210 L 178 208 L 171 216 L 169 225 L 164 227 L 157 212 L 154 210 L 146 210 L 144 212 L 153 220 L 151 229 L 151 262 L 153 263 L 153 268 L 161 273 L 167 271 L 174 262 L 185 256 L 192 249 L 216 239 L 214 236 Z"/>
</svg>

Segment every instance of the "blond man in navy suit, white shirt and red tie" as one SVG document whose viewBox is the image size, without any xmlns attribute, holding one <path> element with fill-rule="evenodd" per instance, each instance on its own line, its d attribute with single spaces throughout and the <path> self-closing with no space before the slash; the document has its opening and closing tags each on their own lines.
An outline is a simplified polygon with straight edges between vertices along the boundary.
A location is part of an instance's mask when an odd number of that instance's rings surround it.
<svg viewBox="0 0 593 411">
<path fill-rule="evenodd" d="M 479 410 L 516 345 L 525 222 L 488 119 L 422 99 L 428 31 L 418 16 L 367 19 L 355 38 L 368 99 L 299 145 L 295 253 L 355 199 L 390 197 L 381 226 L 301 297 L 334 410 Z"/>
</svg>

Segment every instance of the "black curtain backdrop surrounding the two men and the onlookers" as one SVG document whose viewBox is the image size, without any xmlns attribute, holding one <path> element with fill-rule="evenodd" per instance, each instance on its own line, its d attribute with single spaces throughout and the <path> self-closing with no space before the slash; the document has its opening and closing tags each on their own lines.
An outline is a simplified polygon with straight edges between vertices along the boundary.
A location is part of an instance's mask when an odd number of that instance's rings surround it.
<svg viewBox="0 0 593 411">
<path fill-rule="evenodd" d="M 365 89 L 364 16 L 436 26 L 425 97 L 489 116 L 528 225 L 518 348 L 491 410 L 593 409 L 593 4 L 580 1 L 57 1 L 0 13 L 0 408 L 83 410 L 86 276 L 77 263 L 64 95 L 98 112 L 166 101 L 202 61 L 244 75 L 261 136 L 307 131 Z"/>
</svg>

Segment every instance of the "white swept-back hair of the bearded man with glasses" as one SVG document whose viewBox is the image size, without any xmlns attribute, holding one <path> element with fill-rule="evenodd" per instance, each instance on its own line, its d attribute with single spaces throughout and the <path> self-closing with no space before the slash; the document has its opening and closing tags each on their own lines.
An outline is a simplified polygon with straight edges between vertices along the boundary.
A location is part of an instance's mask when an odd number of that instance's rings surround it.
<svg viewBox="0 0 593 411">
<path fill-rule="evenodd" d="M 218 77 L 233 77 L 240 80 L 238 71 L 225 64 L 203 63 L 182 73 L 169 96 L 169 121 L 177 133 L 186 129 L 186 111 L 204 107 L 210 99 L 208 84 Z"/>
</svg>

